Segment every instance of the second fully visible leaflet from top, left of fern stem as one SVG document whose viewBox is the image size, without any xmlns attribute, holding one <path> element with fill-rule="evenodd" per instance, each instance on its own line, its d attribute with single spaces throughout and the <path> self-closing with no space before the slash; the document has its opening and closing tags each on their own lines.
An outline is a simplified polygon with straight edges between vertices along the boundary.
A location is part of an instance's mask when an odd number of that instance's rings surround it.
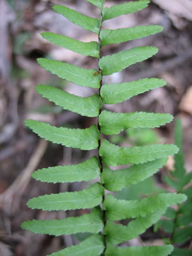
<svg viewBox="0 0 192 256">
<path fill-rule="evenodd" d="M 97 42 L 84 43 L 72 39 L 71 37 L 67 37 L 66 35 L 59 35 L 52 32 L 41 33 L 41 35 L 44 39 L 50 41 L 51 43 L 71 50 L 74 53 L 99 58 L 99 48 Z"/>
</svg>

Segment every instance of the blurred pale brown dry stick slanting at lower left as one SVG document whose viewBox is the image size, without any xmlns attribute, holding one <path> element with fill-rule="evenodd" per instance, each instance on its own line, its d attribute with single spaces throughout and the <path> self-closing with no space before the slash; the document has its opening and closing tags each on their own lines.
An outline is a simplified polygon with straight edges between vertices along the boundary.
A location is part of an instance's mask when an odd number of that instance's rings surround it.
<svg viewBox="0 0 192 256">
<path fill-rule="evenodd" d="M 42 139 L 39 141 L 37 149 L 31 156 L 26 168 L 20 173 L 20 175 L 18 175 L 16 180 L 9 186 L 9 188 L 7 188 L 7 190 L 5 190 L 3 194 L 1 194 L 1 205 L 5 205 L 5 203 L 12 203 L 12 199 L 14 196 L 22 196 L 24 190 L 28 186 L 29 180 L 31 179 L 31 173 L 33 173 L 33 171 L 35 170 L 35 168 L 39 164 L 39 161 L 41 161 L 41 158 L 45 153 L 45 150 L 47 149 L 47 144 L 47 140 Z"/>
</svg>

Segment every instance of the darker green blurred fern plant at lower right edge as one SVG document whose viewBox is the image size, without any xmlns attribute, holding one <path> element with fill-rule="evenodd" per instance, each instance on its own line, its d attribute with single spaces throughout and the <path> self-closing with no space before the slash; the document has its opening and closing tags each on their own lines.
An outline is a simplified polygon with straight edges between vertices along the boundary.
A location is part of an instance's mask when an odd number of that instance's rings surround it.
<svg viewBox="0 0 192 256">
<path fill-rule="evenodd" d="M 192 180 L 192 173 L 186 173 L 183 159 L 182 149 L 182 122 L 176 120 L 174 131 L 175 144 L 180 148 L 178 154 L 174 156 L 174 171 L 170 171 L 165 176 L 168 186 L 172 187 L 176 192 L 186 194 L 188 200 L 182 205 L 178 205 L 178 209 L 168 208 L 164 215 L 166 219 L 161 219 L 155 224 L 155 230 L 159 227 L 170 234 L 170 238 L 166 238 L 168 244 L 182 245 L 192 236 L 192 187 L 187 186 Z M 172 256 L 191 256 L 192 251 L 187 249 L 175 248 Z"/>
</svg>

